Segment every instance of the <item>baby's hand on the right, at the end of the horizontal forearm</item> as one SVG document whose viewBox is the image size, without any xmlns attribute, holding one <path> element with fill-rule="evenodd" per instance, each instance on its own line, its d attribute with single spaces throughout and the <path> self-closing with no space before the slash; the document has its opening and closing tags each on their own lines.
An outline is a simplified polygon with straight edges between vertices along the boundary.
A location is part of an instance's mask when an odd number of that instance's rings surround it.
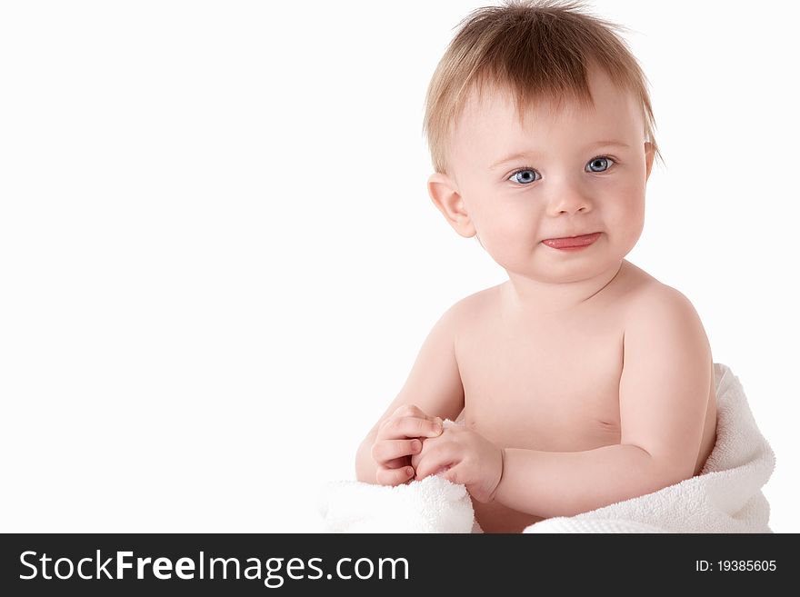
<svg viewBox="0 0 800 597">
<path fill-rule="evenodd" d="M 416 478 L 442 473 L 451 483 L 463 483 L 478 502 L 495 499 L 503 478 L 504 451 L 480 433 L 462 426 L 445 429 L 439 437 L 425 441 L 421 453 L 412 458 Z"/>
</svg>

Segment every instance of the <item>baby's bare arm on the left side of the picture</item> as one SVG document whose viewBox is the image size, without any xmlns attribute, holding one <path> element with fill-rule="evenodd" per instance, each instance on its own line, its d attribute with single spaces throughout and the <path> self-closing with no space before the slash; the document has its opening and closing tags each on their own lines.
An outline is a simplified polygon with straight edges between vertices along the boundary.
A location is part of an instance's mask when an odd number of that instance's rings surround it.
<svg viewBox="0 0 800 597">
<path fill-rule="evenodd" d="M 414 472 L 406 474 L 405 467 L 411 465 L 411 455 L 419 452 L 411 451 L 413 438 L 423 442 L 425 436 L 441 433 L 441 426 L 438 432 L 433 433 L 426 423 L 435 417 L 455 420 L 463 410 L 464 386 L 455 362 L 455 333 L 462 316 L 462 305 L 463 302 L 455 303 L 435 323 L 420 348 L 405 385 L 358 447 L 355 455 L 358 481 L 390 485 L 408 481 Z M 411 405 L 416 408 L 409 408 Z M 382 423 L 392 418 L 396 420 L 387 423 L 389 428 L 384 426 L 382 430 Z M 420 433 L 409 434 L 415 433 L 409 431 L 415 427 Z M 386 460 L 389 451 L 398 449 L 405 450 L 405 453 L 399 456 L 399 452 L 393 453 L 396 457 Z M 384 460 L 384 463 L 378 463 L 376 458 Z M 377 478 L 375 475 L 382 468 L 382 478 Z"/>
</svg>

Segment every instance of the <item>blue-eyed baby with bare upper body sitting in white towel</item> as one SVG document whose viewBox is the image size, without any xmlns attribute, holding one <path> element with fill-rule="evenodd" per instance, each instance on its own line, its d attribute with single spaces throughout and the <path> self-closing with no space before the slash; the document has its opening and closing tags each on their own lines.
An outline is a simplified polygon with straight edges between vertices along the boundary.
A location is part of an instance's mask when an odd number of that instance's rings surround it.
<svg viewBox="0 0 800 597">
<path fill-rule="evenodd" d="M 660 157 L 645 75 L 580 8 L 477 9 L 438 65 L 428 192 L 508 280 L 435 323 L 356 456 L 359 481 L 464 483 L 485 532 L 655 492 L 715 444 L 703 324 L 625 260 Z"/>
</svg>

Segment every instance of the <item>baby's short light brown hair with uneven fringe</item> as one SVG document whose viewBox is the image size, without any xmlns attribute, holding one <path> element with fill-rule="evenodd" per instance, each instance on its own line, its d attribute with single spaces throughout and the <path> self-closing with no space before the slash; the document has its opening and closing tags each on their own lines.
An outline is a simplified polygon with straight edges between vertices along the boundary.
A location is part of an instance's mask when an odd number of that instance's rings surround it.
<svg viewBox="0 0 800 597">
<path fill-rule="evenodd" d="M 641 102 L 645 141 L 653 144 L 663 164 L 647 79 L 615 34 L 615 29 L 628 29 L 582 10 L 575 0 L 508 0 L 477 8 L 456 25 L 460 29 L 436 66 L 425 97 L 423 132 L 435 172 L 447 174 L 452 126 L 473 90 L 478 97 L 485 85 L 509 90 L 522 123 L 525 111 L 542 100 L 555 100 L 556 109 L 564 99 L 594 105 L 587 71 L 595 65 Z"/>
</svg>

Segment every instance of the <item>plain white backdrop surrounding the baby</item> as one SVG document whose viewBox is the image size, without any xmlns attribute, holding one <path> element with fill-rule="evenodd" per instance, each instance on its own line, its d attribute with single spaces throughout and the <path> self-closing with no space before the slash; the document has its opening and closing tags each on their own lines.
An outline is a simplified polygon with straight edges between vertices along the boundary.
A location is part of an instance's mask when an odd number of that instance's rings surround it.
<svg viewBox="0 0 800 597">
<path fill-rule="evenodd" d="M 0 5 L 0 530 L 318 530 L 433 323 L 506 279 L 425 189 L 485 4 Z M 796 9 L 590 7 L 667 165 L 627 258 L 695 304 L 798 532 Z"/>
</svg>

